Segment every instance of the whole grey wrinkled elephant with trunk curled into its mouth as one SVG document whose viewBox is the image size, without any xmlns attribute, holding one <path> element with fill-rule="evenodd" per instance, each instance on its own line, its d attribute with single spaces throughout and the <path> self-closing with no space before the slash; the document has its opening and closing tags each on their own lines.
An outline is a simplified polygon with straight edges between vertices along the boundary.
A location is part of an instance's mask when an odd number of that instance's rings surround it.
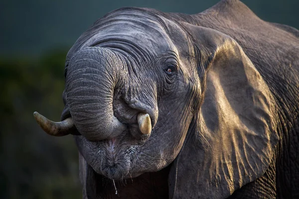
<svg viewBox="0 0 299 199">
<path fill-rule="evenodd" d="M 84 199 L 299 198 L 299 30 L 239 0 L 124 7 L 66 56 L 61 122 Z"/>
</svg>

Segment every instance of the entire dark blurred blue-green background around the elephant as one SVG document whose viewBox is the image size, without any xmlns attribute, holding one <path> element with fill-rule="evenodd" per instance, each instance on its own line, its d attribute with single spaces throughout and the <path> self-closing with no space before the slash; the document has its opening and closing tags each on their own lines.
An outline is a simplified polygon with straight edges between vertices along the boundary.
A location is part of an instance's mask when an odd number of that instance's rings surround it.
<svg viewBox="0 0 299 199">
<path fill-rule="evenodd" d="M 0 199 L 80 199 L 72 137 L 44 133 L 59 120 L 68 49 L 105 13 L 124 6 L 197 13 L 218 0 L 1 0 Z M 264 20 L 299 28 L 298 0 L 243 0 Z"/>
</svg>

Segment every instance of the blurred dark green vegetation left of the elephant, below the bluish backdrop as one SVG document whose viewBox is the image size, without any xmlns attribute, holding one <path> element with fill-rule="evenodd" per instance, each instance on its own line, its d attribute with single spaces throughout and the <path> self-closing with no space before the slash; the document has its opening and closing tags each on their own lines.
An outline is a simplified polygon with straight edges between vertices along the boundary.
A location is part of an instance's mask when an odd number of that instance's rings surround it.
<svg viewBox="0 0 299 199">
<path fill-rule="evenodd" d="M 0 199 L 79 199 L 73 138 L 51 137 L 33 118 L 59 120 L 67 51 L 0 59 Z"/>
</svg>

